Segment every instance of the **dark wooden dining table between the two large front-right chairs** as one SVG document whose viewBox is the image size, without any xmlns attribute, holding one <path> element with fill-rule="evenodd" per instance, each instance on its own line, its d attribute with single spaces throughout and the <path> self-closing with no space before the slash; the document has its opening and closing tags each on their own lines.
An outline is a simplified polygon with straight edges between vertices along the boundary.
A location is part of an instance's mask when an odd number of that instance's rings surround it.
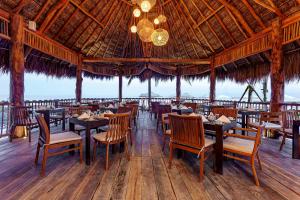
<svg viewBox="0 0 300 200">
<path fill-rule="evenodd" d="M 236 121 L 231 121 L 227 124 L 219 124 L 216 122 L 205 122 L 203 123 L 205 130 L 215 131 L 216 143 L 214 145 L 215 151 L 215 172 L 223 174 L 223 140 L 224 132 L 237 126 Z"/>
</svg>

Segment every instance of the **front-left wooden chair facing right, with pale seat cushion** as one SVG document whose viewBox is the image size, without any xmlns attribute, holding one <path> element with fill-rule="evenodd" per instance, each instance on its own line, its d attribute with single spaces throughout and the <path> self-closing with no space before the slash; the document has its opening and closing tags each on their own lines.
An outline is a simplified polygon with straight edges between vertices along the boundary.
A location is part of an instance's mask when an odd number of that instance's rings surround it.
<svg viewBox="0 0 300 200">
<path fill-rule="evenodd" d="M 38 164 L 40 148 L 44 148 L 43 161 L 41 176 L 45 175 L 47 159 L 50 156 L 56 156 L 66 152 L 71 152 L 79 150 L 80 152 L 80 163 L 82 163 L 82 138 L 74 132 L 62 132 L 57 134 L 50 134 L 49 127 L 46 124 L 46 121 L 42 115 L 36 116 L 39 128 L 40 135 L 38 139 L 38 145 L 36 149 L 35 156 L 35 165 Z M 49 152 L 51 149 L 60 149 L 62 147 L 69 147 L 67 149 L 62 149 L 55 152 Z"/>
</svg>

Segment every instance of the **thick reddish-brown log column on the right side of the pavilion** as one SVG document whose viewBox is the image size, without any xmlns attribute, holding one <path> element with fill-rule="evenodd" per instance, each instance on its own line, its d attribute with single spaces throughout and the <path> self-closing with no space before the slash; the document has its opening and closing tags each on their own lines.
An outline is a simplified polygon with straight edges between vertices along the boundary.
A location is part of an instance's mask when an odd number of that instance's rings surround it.
<svg viewBox="0 0 300 200">
<path fill-rule="evenodd" d="M 284 102 L 284 71 L 282 53 L 283 29 L 281 20 L 272 23 L 272 54 L 271 54 L 271 111 L 281 110 Z"/>
</svg>

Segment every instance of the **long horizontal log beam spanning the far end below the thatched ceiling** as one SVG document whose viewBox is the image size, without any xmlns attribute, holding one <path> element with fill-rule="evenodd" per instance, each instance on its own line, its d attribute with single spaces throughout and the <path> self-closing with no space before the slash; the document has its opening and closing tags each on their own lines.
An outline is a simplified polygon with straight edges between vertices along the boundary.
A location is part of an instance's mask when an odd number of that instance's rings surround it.
<svg viewBox="0 0 300 200">
<path fill-rule="evenodd" d="M 85 63 L 174 63 L 174 64 L 194 64 L 209 65 L 210 59 L 190 59 L 190 58 L 83 58 Z"/>
</svg>

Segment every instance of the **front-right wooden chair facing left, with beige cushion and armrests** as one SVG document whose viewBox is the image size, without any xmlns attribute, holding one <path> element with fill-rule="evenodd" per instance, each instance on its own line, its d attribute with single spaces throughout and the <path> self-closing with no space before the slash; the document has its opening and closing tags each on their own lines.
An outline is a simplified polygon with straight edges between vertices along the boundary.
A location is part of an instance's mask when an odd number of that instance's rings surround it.
<svg viewBox="0 0 300 200">
<path fill-rule="evenodd" d="M 239 131 L 247 131 L 255 133 L 255 136 L 246 136 L 239 134 L 231 134 L 224 133 L 227 138 L 224 140 L 223 148 L 224 148 L 224 156 L 228 158 L 232 158 L 241 162 L 245 162 L 251 165 L 252 173 L 254 176 L 254 182 L 257 186 L 259 186 L 259 181 L 256 174 L 255 169 L 255 157 L 257 157 L 257 161 L 259 164 L 259 168 L 262 169 L 259 155 L 258 155 L 258 147 L 260 144 L 261 133 L 263 132 L 264 127 L 259 126 L 257 129 L 249 129 L 249 128 L 235 128 Z M 232 153 L 232 154 L 228 154 Z M 240 155 L 242 157 L 238 157 Z M 248 159 L 245 159 L 249 158 Z"/>
</svg>

